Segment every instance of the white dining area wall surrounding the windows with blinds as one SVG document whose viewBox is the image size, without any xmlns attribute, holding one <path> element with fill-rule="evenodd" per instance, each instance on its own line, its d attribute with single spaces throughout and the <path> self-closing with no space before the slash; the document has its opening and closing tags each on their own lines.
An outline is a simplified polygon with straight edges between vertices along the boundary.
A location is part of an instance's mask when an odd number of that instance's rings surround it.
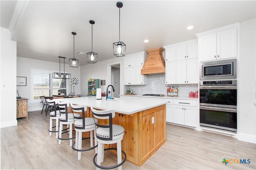
<svg viewBox="0 0 256 170">
<path fill-rule="evenodd" d="M 58 56 L 56 56 L 57 58 Z M 65 59 L 67 61 L 67 59 Z M 16 64 L 16 63 L 15 63 Z M 60 68 L 61 66 L 61 68 Z M 63 72 L 63 63 L 55 63 L 50 61 L 42 61 L 35 59 L 28 59 L 24 57 L 17 57 L 17 76 L 27 77 L 27 86 L 17 86 L 17 90 L 21 97 L 28 98 L 28 111 L 41 110 L 41 103 L 31 103 L 31 69 L 39 70 L 51 70 L 54 72 Z M 61 69 L 61 70 L 60 70 Z M 78 85 L 75 86 L 75 93 L 80 94 L 81 79 L 80 79 L 80 66 L 78 68 L 72 68 L 69 64 L 65 64 L 65 73 L 70 73 L 71 78 L 78 78 Z M 16 74 L 16 73 L 15 73 Z M 71 92 L 70 90 L 70 79 L 68 79 L 67 94 Z M 73 87 L 72 87 L 73 92 Z M 28 115 L 29 116 L 29 115 Z"/>
</svg>

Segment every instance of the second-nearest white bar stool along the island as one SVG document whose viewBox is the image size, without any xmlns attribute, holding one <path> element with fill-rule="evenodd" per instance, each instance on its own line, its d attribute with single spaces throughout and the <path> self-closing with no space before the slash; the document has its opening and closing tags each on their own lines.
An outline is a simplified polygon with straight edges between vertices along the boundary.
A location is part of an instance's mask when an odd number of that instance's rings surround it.
<svg viewBox="0 0 256 170">
<path fill-rule="evenodd" d="M 96 132 L 95 132 L 95 123 L 93 117 L 85 117 L 85 111 L 87 110 L 86 105 L 73 105 L 70 104 L 72 111 L 82 113 L 82 117 L 76 117 L 74 115 L 75 123 L 75 131 L 76 131 L 76 142 L 73 143 L 72 149 L 78 151 L 78 160 L 82 158 L 82 151 L 87 151 L 95 148 L 95 153 L 97 153 L 97 139 L 96 139 Z M 97 123 L 98 120 L 95 119 Z M 94 131 L 94 135 L 93 135 Z M 90 137 L 86 137 L 82 139 L 82 132 L 90 132 Z M 94 146 L 93 146 L 93 137 L 94 137 Z M 82 140 L 90 139 L 90 148 L 82 149 Z M 74 147 L 75 145 L 75 147 Z"/>
</svg>

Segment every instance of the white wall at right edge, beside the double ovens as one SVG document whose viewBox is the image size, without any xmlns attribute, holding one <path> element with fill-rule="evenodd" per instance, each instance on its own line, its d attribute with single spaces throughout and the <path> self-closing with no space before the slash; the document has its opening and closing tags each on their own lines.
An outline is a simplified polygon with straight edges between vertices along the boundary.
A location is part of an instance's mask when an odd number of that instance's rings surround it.
<svg viewBox="0 0 256 170">
<path fill-rule="evenodd" d="M 240 23 L 238 68 L 238 139 L 256 143 L 254 81 L 256 78 L 256 19 Z"/>
</svg>

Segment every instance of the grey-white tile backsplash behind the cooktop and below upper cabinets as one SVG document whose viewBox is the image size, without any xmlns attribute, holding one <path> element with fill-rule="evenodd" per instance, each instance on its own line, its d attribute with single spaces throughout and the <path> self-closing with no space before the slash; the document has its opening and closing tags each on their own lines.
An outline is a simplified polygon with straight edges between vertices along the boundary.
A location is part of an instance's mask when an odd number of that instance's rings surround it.
<svg viewBox="0 0 256 170">
<path fill-rule="evenodd" d="M 188 97 L 189 92 L 198 91 L 198 84 L 165 84 L 165 74 L 148 74 L 148 85 L 129 85 L 124 86 L 124 94 L 127 89 L 131 89 L 134 94 L 164 94 L 168 86 L 176 85 L 179 89 L 180 97 Z"/>
</svg>

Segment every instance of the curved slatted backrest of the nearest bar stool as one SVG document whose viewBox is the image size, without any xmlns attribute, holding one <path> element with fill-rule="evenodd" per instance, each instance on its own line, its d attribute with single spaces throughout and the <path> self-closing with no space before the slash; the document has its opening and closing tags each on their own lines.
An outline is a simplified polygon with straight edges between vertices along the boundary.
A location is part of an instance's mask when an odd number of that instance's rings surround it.
<svg viewBox="0 0 256 170">
<path fill-rule="evenodd" d="M 96 122 L 94 119 L 94 123 L 96 125 L 96 127 L 101 127 L 101 128 L 106 128 L 106 131 L 108 131 L 109 129 L 109 137 L 102 137 L 102 136 L 98 136 L 96 133 L 96 137 L 98 139 L 104 140 L 104 141 L 112 141 L 113 139 L 113 123 L 112 123 L 112 118 L 115 117 L 115 111 L 113 109 L 109 109 L 109 110 L 96 110 L 94 108 L 91 107 L 92 110 L 92 114 L 94 116 L 94 118 L 97 119 L 108 119 L 109 124 L 108 125 L 102 125 L 99 124 L 100 121 Z"/>
</svg>

